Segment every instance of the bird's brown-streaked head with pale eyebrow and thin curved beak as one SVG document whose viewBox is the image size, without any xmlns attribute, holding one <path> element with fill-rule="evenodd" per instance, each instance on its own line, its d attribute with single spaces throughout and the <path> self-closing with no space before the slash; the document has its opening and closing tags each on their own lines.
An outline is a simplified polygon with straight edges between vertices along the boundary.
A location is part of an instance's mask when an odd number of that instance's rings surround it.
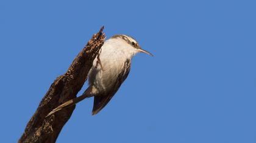
<svg viewBox="0 0 256 143">
<path fill-rule="evenodd" d="M 112 38 L 110 39 L 116 39 L 119 42 L 121 42 L 123 45 L 125 45 L 125 48 L 128 48 L 127 50 L 130 50 L 131 52 L 133 52 L 134 54 L 136 53 L 146 53 L 148 55 L 153 56 L 151 53 L 149 53 L 146 50 L 143 50 L 140 45 L 138 44 L 138 42 L 132 38 L 131 36 L 127 36 L 127 35 L 114 35 L 112 36 Z"/>
</svg>

